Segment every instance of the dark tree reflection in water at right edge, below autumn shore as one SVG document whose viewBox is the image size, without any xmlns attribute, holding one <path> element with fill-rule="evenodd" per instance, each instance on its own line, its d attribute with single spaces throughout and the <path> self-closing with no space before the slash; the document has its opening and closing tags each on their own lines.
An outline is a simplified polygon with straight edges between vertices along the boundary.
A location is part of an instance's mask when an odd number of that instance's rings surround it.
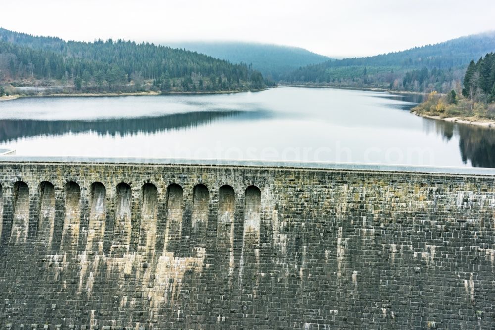
<svg viewBox="0 0 495 330">
<path fill-rule="evenodd" d="M 474 167 L 495 167 L 495 130 L 493 128 L 457 124 L 443 120 L 428 120 L 427 130 L 450 140 L 459 136 L 459 151 L 462 161 Z"/>
</svg>

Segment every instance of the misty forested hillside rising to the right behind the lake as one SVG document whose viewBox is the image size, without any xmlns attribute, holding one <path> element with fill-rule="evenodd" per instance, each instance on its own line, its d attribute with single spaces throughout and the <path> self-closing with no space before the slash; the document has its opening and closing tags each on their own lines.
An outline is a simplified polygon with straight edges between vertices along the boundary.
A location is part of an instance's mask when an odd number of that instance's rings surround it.
<svg viewBox="0 0 495 330">
<path fill-rule="evenodd" d="M 460 85 L 473 58 L 494 50 L 495 32 L 483 33 L 403 52 L 307 65 L 286 75 L 284 81 L 448 92 Z"/>
</svg>

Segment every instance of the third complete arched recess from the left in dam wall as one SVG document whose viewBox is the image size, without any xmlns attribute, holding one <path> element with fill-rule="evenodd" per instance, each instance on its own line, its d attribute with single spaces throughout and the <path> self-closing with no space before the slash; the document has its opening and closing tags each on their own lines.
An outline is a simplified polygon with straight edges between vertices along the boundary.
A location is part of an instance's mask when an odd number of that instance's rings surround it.
<svg viewBox="0 0 495 330">
<path fill-rule="evenodd" d="M 81 226 L 81 188 L 69 181 L 64 187 L 64 220 L 62 226 L 61 251 L 76 251 Z"/>
</svg>

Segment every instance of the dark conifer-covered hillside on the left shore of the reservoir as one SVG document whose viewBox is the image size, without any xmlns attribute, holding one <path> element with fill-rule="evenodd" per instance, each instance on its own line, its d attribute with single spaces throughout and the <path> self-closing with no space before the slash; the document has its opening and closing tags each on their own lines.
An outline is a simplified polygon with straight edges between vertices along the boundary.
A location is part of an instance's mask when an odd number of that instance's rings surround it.
<svg viewBox="0 0 495 330">
<path fill-rule="evenodd" d="M 72 91 L 235 91 L 265 87 L 259 71 L 207 55 L 123 40 L 63 41 L 0 29 L 0 85 Z"/>
</svg>

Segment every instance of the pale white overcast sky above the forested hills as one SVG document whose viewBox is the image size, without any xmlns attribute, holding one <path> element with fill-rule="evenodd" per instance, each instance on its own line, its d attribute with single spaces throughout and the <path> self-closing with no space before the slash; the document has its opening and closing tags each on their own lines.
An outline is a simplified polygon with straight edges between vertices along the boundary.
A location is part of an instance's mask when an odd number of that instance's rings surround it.
<svg viewBox="0 0 495 330">
<path fill-rule="evenodd" d="M 93 41 L 254 41 L 322 55 L 400 51 L 495 30 L 494 0 L 1 1 L 0 26 Z"/>
</svg>

